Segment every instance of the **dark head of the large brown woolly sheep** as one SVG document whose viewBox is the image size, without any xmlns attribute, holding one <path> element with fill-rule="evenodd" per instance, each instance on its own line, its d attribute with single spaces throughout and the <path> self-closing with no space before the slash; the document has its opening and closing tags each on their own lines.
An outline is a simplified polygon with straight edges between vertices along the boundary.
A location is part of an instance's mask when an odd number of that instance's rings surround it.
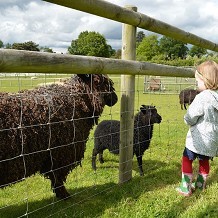
<svg viewBox="0 0 218 218">
<path fill-rule="evenodd" d="M 107 106 L 112 107 L 118 101 L 117 94 L 113 87 L 114 83 L 107 75 L 103 74 L 79 74 L 78 75 L 87 84 L 90 84 L 91 90 L 100 94 L 102 101 Z"/>
</svg>

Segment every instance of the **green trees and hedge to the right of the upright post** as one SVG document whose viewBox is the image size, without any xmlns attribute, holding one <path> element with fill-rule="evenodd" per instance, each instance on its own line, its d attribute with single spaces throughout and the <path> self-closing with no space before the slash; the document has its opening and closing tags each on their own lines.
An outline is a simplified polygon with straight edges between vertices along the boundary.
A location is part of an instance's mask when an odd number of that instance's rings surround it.
<svg viewBox="0 0 218 218">
<path fill-rule="evenodd" d="M 218 53 L 208 51 L 196 45 L 188 45 L 182 41 L 157 34 L 137 32 L 136 58 L 173 66 L 193 66 L 208 58 L 218 61 Z"/>
</svg>

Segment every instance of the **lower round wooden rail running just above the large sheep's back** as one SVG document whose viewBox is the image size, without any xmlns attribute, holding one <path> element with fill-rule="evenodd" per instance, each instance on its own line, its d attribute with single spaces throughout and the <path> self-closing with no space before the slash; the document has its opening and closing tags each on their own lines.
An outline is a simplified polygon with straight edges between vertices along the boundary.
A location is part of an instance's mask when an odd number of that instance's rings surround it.
<svg viewBox="0 0 218 218">
<path fill-rule="evenodd" d="M 194 77 L 192 68 L 131 60 L 13 49 L 0 49 L 0 72 L 60 74 L 102 73 Z"/>
</svg>

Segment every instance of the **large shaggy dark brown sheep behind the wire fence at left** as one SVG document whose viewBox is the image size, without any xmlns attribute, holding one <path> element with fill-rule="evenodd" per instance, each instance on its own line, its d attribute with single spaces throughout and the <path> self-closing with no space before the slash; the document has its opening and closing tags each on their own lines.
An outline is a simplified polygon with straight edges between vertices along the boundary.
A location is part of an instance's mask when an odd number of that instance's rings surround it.
<svg viewBox="0 0 218 218">
<path fill-rule="evenodd" d="M 64 183 L 81 164 L 90 130 L 105 105 L 117 102 L 106 75 L 74 75 L 16 94 L 0 94 L 0 187 L 41 173 L 58 198 L 70 195 Z"/>
</svg>

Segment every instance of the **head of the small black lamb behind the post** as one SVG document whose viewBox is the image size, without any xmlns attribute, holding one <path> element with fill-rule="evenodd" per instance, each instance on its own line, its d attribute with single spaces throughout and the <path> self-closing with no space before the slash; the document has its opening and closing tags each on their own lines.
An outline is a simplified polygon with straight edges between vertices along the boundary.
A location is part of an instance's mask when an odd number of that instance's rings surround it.
<svg viewBox="0 0 218 218">
<path fill-rule="evenodd" d="M 155 106 L 142 105 L 140 110 L 145 115 L 150 124 L 161 123 L 162 117 L 158 114 Z"/>
</svg>

